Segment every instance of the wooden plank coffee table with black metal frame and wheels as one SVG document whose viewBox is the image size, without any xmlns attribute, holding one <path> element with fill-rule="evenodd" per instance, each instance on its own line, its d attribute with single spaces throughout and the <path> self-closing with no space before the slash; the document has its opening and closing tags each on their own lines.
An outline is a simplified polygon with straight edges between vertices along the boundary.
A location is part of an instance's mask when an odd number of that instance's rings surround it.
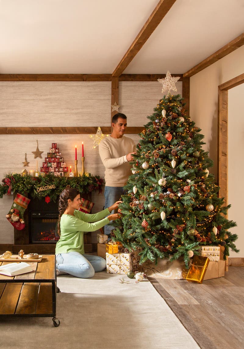
<svg viewBox="0 0 244 349">
<path fill-rule="evenodd" d="M 43 255 L 40 262 L 25 262 L 32 272 L 16 276 L 0 274 L 0 318 L 53 317 L 53 325 L 58 327 L 55 255 Z"/>
</svg>

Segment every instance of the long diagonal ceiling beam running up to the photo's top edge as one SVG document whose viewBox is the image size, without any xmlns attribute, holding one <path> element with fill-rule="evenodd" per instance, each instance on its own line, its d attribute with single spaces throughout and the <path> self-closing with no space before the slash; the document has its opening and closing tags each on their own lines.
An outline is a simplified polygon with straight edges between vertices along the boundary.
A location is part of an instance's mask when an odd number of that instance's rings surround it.
<svg viewBox="0 0 244 349">
<path fill-rule="evenodd" d="M 140 30 L 139 34 L 135 38 L 134 42 L 125 53 L 117 67 L 115 68 L 112 76 L 119 77 L 124 69 L 130 64 L 135 55 L 140 51 L 146 40 L 150 37 L 153 31 L 158 27 L 163 17 L 169 12 L 170 8 L 174 5 L 176 0 L 160 0 L 158 5 L 153 10 L 152 14 Z"/>
</svg>

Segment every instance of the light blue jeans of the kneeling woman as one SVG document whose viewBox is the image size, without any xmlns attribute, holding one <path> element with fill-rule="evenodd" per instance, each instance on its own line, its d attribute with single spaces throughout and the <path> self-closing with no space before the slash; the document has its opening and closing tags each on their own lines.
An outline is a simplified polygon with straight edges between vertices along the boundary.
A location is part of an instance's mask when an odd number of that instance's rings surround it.
<svg viewBox="0 0 244 349">
<path fill-rule="evenodd" d="M 59 253 L 56 255 L 56 263 L 60 272 L 83 279 L 88 279 L 106 268 L 104 258 L 79 252 Z"/>
</svg>

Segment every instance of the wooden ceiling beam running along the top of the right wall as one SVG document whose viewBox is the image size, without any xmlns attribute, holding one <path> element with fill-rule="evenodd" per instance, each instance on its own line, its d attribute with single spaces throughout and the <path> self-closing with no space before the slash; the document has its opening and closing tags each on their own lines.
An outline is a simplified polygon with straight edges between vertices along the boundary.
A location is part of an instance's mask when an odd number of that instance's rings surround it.
<svg viewBox="0 0 244 349">
<path fill-rule="evenodd" d="M 208 66 L 215 63 L 219 59 L 231 53 L 232 51 L 235 51 L 236 49 L 238 49 L 238 47 L 241 47 L 242 45 L 244 45 L 244 33 L 242 33 L 237 38 L 229 42 L 227 45 L 223 46 L 218 51 L 211 54 L 209 57 L 201 61 L 195 67 L 188 70 L 188 72 L 183 74 L 183 77 L 191 77 L 199 73 L 201 70 L 207 68 Z"/>
</svg>

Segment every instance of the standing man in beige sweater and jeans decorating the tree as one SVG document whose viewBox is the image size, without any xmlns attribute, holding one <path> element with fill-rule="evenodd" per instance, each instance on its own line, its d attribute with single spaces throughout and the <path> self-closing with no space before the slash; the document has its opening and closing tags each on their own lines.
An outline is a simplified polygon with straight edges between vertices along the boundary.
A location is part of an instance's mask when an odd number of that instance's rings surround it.
<svg viewBox="0 0 244 349">
<path fill-rule="evenodd" d="M 113 132 L 99 144 L 99 154 L 105 166 L 105 208 L 118 201 L 124 194 L 124 185 L 131 174 L 130 161 L 136 154 L 135 142 L 124 136 L 127 127 L 125 114 L 115 114 L 112 127 Z M 109 235 L 112 229 L 112 226 L 105 225 L 104 233 Z"/>
</svg>

